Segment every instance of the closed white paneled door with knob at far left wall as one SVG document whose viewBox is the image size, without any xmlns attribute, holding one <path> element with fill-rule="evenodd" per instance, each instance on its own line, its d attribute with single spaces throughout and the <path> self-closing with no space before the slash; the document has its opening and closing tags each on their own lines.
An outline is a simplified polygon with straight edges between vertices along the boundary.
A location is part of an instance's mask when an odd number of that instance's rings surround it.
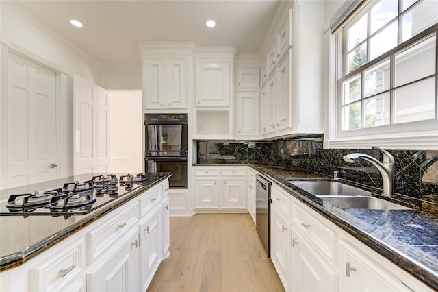
<svg viewBox="0 0 438 292">
<path fill-rule="evenodd" d="M 8 188 L 54 180 L 56 169 L 56 74 L 9 54 Z"/>
</svg>

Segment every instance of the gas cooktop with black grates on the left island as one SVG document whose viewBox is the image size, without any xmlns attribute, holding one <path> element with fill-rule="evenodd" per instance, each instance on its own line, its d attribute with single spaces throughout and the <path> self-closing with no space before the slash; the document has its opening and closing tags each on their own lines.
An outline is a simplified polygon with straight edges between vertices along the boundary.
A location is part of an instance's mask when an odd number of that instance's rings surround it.
<svg viewBox="0 0 438 292">
<path fill-rule="evenodd" d="M 12 188 L 1 191 L 0 215 L 84 215 L 159 178 L 144 173 L 120 175 L 119 178 L 114 174 L 105 174 L 64 182 L 61 186 L 55 186 L 57 180 Z M 32 186 L 53 187 L 28 192 Z"/>
</svg>

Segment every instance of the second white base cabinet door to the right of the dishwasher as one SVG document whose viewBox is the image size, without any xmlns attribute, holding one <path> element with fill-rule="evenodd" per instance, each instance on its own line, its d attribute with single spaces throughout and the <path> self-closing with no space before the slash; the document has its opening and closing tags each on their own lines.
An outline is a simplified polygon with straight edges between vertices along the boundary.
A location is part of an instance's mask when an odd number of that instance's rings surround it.
<svg viewBox="0 0 438 292">
<path fill-rule="evenodd" d="M 313 250 L 298 228 L 292 227 L 290 291 L 337 291 L 337 272 Z"/>
</svg>

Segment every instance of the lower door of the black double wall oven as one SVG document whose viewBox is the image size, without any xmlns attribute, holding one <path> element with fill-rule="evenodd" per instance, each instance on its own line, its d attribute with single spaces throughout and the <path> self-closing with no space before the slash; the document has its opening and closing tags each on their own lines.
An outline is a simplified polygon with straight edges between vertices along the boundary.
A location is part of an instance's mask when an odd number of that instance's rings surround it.
<svg viewBox="0 0 438 292">
<path fill-rule="evenodd" d="M 169 178 L 170 188 L 187 188 L 187 160 L 146 160 L 147 172 L 171 172 Z"/>
</svg>

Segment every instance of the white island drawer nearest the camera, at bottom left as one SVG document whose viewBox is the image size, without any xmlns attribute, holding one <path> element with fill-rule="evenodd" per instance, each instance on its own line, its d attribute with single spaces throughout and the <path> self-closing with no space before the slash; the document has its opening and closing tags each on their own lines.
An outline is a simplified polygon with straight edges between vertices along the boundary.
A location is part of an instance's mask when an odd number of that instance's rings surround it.
<svg viewBox="0 0 438 292">
<path fill-rule="evenodd" d="M 60 243 L 57 248 L 42 254 L 44 261 L 29 270 L 29 284 L 33 291 L 57 291 L 77 280 L 83 268 L 83 240 Z"/>
</svg>

